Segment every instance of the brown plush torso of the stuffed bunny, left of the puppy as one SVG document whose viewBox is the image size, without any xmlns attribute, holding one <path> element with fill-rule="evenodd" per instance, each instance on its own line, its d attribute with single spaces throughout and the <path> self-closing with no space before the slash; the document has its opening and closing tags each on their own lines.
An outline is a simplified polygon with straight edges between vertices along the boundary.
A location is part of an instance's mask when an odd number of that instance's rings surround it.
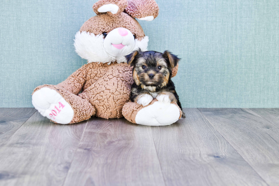
<svg viewBox="0 0 279 186">
<path fill-rule="evenodd" d="M 87 98 L 101 118 L 121 118 L 122 107 L 130 98 L 133 84 L 132 69 L 121 64 L 88 64 L 94 71 L 87 75 L 84 91 L 79 96 Z M 89 70 L 91 70 L 89 68 Z M 99 70 L 102 69 L 102 70 Z"/>
</svg>

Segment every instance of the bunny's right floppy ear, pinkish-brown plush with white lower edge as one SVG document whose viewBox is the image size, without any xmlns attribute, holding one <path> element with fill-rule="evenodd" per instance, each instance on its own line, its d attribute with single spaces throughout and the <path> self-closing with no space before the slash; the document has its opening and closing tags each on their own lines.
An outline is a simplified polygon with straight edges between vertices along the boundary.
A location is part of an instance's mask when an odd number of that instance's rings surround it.
<svg viewBox="0 0 279 186">
<path fill-rule="evenodd" d="M 159 14 L 159 7 L 154 0 L 127 0 L 125 11 L 133 18 L 152 21 Z"/>
</svg>

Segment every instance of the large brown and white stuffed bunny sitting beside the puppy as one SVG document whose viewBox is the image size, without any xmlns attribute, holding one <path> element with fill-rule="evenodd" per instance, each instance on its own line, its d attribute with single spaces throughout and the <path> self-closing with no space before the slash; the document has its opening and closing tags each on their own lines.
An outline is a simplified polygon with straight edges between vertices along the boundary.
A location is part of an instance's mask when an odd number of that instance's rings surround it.
<svg viewBox="0 0 279 186">
<path fill-rule="evenodd" d="M 124 56 L 147 50 L 148 37 L 138 21 L 152 21 L 159 7 L 154 0 L 99 0 L 97 14 L 75 35 L 75 51 L 88 60 L 58 85 L 41 85 L 32 93 L 32 104 L 47 118 L 60 124 L 97 116 L 121 118 L 143 125 L 169 125 L 181 117 L 176 103 L 154 99 L 142 106 L 130 102 L 132 69 Z M 173 68 L 173 76 L 177 73 Z"/>
</svg>

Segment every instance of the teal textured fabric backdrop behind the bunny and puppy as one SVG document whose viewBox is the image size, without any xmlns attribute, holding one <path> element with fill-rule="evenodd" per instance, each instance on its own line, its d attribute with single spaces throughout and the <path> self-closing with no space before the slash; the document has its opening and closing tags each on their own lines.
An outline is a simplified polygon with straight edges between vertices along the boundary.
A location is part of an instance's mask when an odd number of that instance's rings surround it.
<svg viewBox="0 0 279 186">
<path fill-rule="evenodd" d="M 85 60 L 74 50 L 94 16 L 88 0 L 0 1 L 0 107 L 32 107 L 31 93 Z M 278 0 L 157 0 L 139 21 L 149 50 L 182 58 L 173 78 L 183 107 L 279 107 Z"/>
</svg>

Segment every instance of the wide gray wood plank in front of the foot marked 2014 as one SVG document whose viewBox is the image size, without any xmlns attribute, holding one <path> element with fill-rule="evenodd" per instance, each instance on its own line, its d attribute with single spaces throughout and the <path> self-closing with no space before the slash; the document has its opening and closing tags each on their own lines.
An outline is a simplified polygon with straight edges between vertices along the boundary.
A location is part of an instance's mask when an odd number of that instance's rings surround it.
<svg viewBox="0 0 279 186">
<path fill-rule="evenodd" d="M 0 146 L 0 185 L 62 185 L 86 122 L 55 124 L 36 112 Z"/>
</svg>

